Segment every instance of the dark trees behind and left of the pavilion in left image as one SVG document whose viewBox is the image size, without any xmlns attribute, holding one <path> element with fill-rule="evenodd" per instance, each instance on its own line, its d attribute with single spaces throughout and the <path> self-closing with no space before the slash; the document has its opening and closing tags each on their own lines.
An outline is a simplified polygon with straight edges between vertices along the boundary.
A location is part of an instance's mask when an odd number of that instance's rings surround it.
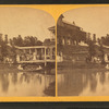
<svg viewBox="0 0 109 109">
<path fill-rule="evenodd" d="M 48 39 L 50 41 L 50 39 Z M 48 44 L 47 39 L 44 41 L 46 45 Z M 37 37 L 33 36 L 26 36 L 22 38 L 21 35 L 19 37 L 13 37 L 8 40 L 8 36 L 4 37 L 4 40 L 2 37 L 0 37 L 0 61 L 3 61 L 4 58 L 12 58 L 15 62 L 16 59 L 16 52 L 15 46 L 19 47 L 28 47 L 28 46 L 41 46 L 44 44 L 43 41 L 38 40 Z"/>
</svg>

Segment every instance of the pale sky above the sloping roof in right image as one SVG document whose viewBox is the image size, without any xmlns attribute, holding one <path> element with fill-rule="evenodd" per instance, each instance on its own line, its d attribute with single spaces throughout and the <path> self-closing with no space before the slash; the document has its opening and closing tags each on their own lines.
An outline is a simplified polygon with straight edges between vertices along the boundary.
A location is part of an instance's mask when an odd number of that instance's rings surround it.
<svg viewBox="0 0 109 109">
<path fill-rule="evenodd" d="M 96 34 L 97 38 L 109 34 L 109 8 L 90 7 L 69 10 L 63 13 L 64 21 L 75 22 L 83 31 Z"/>
</svg>

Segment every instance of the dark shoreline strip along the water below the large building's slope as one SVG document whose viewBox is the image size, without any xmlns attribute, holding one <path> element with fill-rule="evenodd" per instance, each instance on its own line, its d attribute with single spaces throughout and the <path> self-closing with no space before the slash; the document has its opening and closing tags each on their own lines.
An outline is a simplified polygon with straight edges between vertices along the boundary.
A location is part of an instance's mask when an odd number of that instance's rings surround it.
<svg viewBox="0 0 109 109">
<path fill-rule="evenodd" d="M 98 64 L 98 63 L 85 63 L 85 62 L 77 62 L 77 63 L 73 63 L 73 62 L 61 62 L 58 63 L 58 74 L 61 73 L 69 73 L 69 72 L 76 72 L 76 71 L 81 71 L 81 72 L 106 72 L 109 71 L 109 69 L 106 69 L 106 64 Z"/>
</svg>

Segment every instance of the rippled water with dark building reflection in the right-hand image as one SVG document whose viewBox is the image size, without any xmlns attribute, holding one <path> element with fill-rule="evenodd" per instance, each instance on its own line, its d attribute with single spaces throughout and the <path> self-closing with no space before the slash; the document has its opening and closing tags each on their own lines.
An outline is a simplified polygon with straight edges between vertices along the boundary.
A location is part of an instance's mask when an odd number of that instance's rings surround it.
<svg viewBox="0 0 109 109">
<path fill-rule="evenodd" d="M 59 96 L 109 96 L 109 71 L 58 71 Z"/>
</svg>

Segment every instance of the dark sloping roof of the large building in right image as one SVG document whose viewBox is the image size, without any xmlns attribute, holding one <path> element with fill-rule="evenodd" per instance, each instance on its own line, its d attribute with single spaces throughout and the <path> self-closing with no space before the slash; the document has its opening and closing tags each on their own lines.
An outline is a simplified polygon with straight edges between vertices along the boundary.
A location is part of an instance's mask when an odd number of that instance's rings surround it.
<svg viewBox="0 0 109 109">
<path fill-rule="evenodd" d="M 70 23 L 68 21 L 64 21 L 62 17 L 58 20 L 57 24 L 57 35 L 60 36 L 66 36 L 66 37 L 74 37 L 74 39 L 77 38 L 86 38 L 86 32 L 83 31 L 82 27 L 75 25 L 75 23 Z"/>
</svg>

